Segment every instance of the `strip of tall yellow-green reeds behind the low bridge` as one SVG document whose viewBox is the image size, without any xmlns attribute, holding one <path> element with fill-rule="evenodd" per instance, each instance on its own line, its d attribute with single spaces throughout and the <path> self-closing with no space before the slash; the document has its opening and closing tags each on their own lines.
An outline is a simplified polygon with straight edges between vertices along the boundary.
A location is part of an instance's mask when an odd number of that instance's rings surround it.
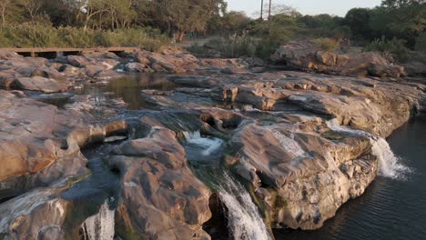
<svg viewBox="0 0 426 240">
<path fill-rule="evenodd" d="M 51 25 L 13 25 L 0 30 L 0 47 L 96 47 L 134 46 L 156 51 L 169 39 L 152 28 L 86 30 Z"/>
</svg>

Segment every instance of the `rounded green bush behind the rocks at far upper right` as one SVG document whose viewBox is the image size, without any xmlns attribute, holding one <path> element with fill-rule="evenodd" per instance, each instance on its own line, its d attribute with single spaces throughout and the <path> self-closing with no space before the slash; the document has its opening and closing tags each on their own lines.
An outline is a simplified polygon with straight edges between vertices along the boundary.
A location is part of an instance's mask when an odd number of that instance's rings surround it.
<svg viewBox="0 0 426 240">
<path fill-rule="evenodd" d="M 400 62 L 410 58 L 410 50 L 405 46 L 405 41 L 397 38 L 387 40 L 385 37 L 376 39 L 364 48 L 364 52 L 380 52 L 384 56 L 391 55 Z"/>
</svg>

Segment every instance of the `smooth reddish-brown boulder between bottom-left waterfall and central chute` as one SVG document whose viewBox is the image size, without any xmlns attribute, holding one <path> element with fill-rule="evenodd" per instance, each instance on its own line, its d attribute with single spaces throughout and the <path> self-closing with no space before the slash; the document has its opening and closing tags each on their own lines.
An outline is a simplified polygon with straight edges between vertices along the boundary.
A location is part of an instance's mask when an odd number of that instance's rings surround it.
<svg viewBox="0 0 426 240">
<path fill-rule="evenodd" d="M 157 123 L 145 138 L 119 145 L 106 162 L 121 175 L 121 238 L 209 239 L 201 225 L 211 216 L 210 191 L 192 175 L 174 132 Z"/>
</svg>

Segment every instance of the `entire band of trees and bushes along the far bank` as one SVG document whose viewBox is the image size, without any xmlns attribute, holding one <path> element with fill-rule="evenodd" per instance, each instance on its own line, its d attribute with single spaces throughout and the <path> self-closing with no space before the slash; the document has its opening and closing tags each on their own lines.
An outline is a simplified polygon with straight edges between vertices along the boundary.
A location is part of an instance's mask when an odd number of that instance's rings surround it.
<svg viewBox="0 0 426 240">
<path fill-rule="evenodd" d="M 325 51 L 351 42 L 399 61 L 406 61 L 409 51 L 426 52 L 426 0 L 383 0 L 375 8 L 353 8 L 345 17 L 301 15 L 286 5 L 271 10 L 267 20 L 228 12 L 225 0 L 0 0 L 0 47 L 156 50 L 190 34 L 218 36 L 208 46 L 227 57 L 269 57 L 279 45 L 300 39 L 318 39 Z M 206 52 L 201 45 L 189 50 Z"/>
</svg>

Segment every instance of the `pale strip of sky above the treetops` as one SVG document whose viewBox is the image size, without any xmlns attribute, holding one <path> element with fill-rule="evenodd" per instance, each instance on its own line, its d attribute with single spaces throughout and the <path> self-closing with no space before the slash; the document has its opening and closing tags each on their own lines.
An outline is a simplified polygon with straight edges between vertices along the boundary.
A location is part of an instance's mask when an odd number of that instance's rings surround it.
<svg viewBox="0 0 426 240">
<path fill-rule="evenodd" d="M 228 10 L 244 11 L 254 16 L 260 11 L 261 0 L 227 0 Z M 269 0 L 264 0 L 269 3 Z M 272 0 L 272 4 L 289 5 L 296 8 L 302 15 L 330 14 L 344 16 L 354 7 L 374 7 L 381 0 Z"/>
</svg>

